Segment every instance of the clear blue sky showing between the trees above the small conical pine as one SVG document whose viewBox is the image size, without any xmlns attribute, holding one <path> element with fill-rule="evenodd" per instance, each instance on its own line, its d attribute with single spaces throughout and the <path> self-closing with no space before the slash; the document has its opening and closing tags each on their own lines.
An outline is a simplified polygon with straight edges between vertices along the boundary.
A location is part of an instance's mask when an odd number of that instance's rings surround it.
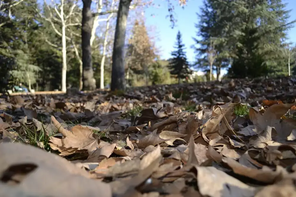
<svg viewBox="0 0 296 197">
<path fill-rule="evenodd" d="M 170 0 L 177 1 L 177 0 Z M 290 20 L 296 19 L 296 0 L 283 0 L 288 3 L 287 9 L 294 9 L 290 12 Z M 189 0 L 187 6 L 182 9 L 175 3 L 175 17 L 177 19 L 174 29 L 170 27 L 170 19 L 166 18 L 168 15 L 167 0 L 154 0 L 154 3 L 160 5 L 160 8 L 149 7 L 145 10 L 145 17 L 147 25 L 154 25 L 157 28 L 158 38 L 157 46 L 161 48 L 161 58 L 170 58 L 170 52 L 173 50 L 173 45 L 176 42 L 176 35 L 178 30 L 181 31 L 183 43 L 186 47 L 187 58 L 189 61 L 194 61 L 194 51 L 190 48 L 194 41 L 192 37 L 196 37 L 197 29 L 194 27 L 195 23 L 199 22 L 197 12 L 200 12 L 202 0 Z M 154 17 L 151 16 L 154 14 Z M 296 25 L 295 25 L 296 26 Z M 289 31 L 290 40 L 296 43 L 296 27 Z"/>
</svg>

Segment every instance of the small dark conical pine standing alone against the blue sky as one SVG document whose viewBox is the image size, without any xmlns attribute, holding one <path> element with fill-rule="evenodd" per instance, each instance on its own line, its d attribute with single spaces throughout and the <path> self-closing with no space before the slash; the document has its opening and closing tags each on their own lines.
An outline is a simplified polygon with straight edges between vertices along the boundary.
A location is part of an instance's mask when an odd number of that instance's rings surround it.
<svg viewBox="0 0 296 197">
<path fill-rule="evenodd" d="M 171 58 L 169 64 L 170 74 L 175 75 L 178 79 L 178 83 L 180 83 L 181 79 L 185 79 L 190 74 L 192 74 L 192 71 L 189 68 L 186 53 L 184 51 L 185 45 L 182 43 L 180 31 L 178 31 L 177 42 L 174 48 L 176 50 L 171 53 L 173 58 Z"/>
</svg>

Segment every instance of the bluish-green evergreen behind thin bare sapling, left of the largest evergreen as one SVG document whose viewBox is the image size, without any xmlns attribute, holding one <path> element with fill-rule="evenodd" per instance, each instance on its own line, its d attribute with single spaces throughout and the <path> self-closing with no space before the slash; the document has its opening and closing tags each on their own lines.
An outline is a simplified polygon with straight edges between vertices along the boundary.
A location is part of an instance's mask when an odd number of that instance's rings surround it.
<svg viewBox="0 0 296 197">
<path fill-rule="evenodd" d="M 206 73 L 212 73 L 211 67 L 217 73 L 217 80 L 220 78 L 221 69 L 229 65 L 230 54 L 223 40 L 223 25 L 218 22 L 219 5 L 213 0 L 204 0 L 200 14 L 197 14 L 199 23 L 196 36 L 193 38 L 195 66 Z M 212 76 L 209 74 L 209 76 Z M 210 77 L 211 78 L 211 77 Z"/>
</svg>

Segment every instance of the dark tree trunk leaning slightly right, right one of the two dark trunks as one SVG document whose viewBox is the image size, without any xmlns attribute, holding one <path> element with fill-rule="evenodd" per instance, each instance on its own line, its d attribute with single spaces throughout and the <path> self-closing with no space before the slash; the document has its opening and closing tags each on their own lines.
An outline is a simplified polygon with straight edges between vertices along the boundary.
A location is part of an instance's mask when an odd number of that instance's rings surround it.
<svg viewBox="0 0 296 197">
<path fill-rule="evenodd" d="M 123 51 L 126 38 L 126 21 L 131 1 L 120 0 L 119 2 L 112 55 L 111 90 L 124 90 L 126 87 Z"/>
</svg>

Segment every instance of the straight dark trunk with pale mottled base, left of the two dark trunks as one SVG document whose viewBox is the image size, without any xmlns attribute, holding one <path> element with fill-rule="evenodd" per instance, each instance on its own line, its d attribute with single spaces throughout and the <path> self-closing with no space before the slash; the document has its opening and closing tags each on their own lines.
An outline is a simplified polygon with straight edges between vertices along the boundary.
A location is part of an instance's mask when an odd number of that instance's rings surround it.
<svg viewBox="0 0 296 197">
<path fill-rule="evenodd" d="M 82 9 L 82 67 L 83 67 L 83 90 L 95 90 L 96 80 L 94 79 L 94 71 L 91 61 L 91 28 L 93 25 L 93 17 L 91 13 L 91 0 L 83 0 Z"/>
</svg>

